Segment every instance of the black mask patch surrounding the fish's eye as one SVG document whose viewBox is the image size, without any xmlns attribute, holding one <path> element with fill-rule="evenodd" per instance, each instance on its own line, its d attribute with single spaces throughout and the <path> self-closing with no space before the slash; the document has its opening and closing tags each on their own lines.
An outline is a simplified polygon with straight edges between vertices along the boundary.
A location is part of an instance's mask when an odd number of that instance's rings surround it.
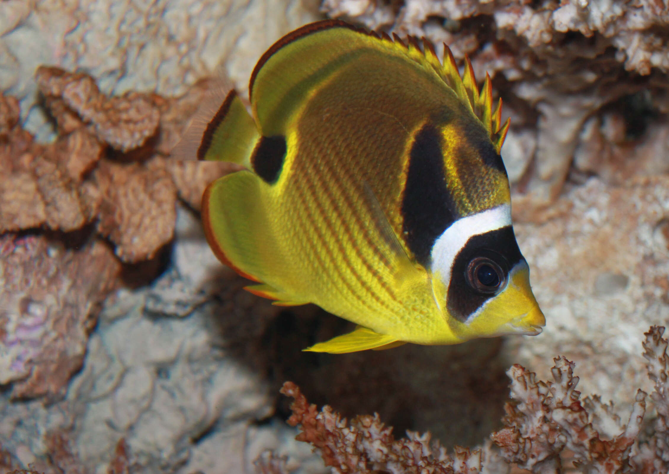
<svg viewBox="0 0 669 474">
<path fill-rule="evenodd" d="M 476 257 L 491 259 L 501 267 L 505 275 L 523 259 L 510 225 L 470 237 L 453 261 L 446 299 L 448 312 L 460 321 L 465 321 L 488 298 L 494 296 L 482 295 L 467 283 L 467 265 Z"/>
</svg>

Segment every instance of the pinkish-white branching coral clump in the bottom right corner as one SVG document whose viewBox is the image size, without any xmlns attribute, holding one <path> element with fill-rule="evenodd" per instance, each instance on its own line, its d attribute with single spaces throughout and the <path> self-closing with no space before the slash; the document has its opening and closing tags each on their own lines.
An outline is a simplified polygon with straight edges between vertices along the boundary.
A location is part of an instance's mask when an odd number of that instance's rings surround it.
<svg viewBox="0 0 669 474">
<path fill-rule="evenodd" d="M 599 397 L 581 400 L 575 390 L 572 362 L 556 358 L 553 381 L 537 381 L 535 374 L 514 365 L 508 370 L 511 396 L 506 405 L 506 428 L 492 439 L 510 463 L 535 473 L 560 471 L 563 449 L 573 452 L 575 466 L 583 473 L 667 472 L 669 415 L 667 340 L 664 328 L 646 332 L 644 357 L 648 376 L 655 384 L 650 394 L 658 417 L 652 430 L 642 430 L 646 393 L 638 390 L 627 425 L 621 425 L 611 406 Z"/>
</svg>

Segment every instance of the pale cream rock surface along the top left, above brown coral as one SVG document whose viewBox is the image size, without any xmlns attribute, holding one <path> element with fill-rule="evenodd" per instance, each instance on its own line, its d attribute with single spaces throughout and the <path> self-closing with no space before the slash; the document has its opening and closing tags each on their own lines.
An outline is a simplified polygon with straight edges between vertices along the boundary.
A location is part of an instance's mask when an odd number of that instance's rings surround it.
<svg viewBox="0 0 669 474">
<path fill-rule="evenodd" d="M 309 0 L 114 0 L 0 2 L 0 91 L 21 100 L 23 120 L 50 135 L 37 102 L 38 66 L 81 68 L 105 94 L 184 94 L 221 64 L 246 88 L 258 57 L 278 37 L 318 17 Z M 26 51 L 30 51 L 26 53 Z M 234 51 L 234 54 L 232 54 Z"/>
</svg>

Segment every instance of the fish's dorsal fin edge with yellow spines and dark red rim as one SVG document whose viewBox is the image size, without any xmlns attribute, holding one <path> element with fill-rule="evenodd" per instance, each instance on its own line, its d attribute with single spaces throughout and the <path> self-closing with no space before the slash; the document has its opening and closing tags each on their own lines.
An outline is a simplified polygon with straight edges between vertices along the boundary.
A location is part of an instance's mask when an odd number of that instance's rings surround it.
<svg viewBox="0 0 669 474">
<path fill-rule="evenodd" d="M 464 102 L 472 110 L 474 115 L 480 120 L 481 124 L 486 128 L 490 136 L 490 140 L 494 144 L 497 152 L 500 152 L 502 148 L 502 143 L 506 136 L 506 130 L 508 130 L 509 121 L 507 120 L 504 125 L 500 123 L 501 120 L 501 107 L 502 100 L 500 98 L 496 112 L 492 112 L 492 88 L 490 86 L 490 78 L 486 76 L 486 82 L 483 84 L 482 91 L 478 91 L 478 86 L 476 86 L 476 79 L 474 78 L 474 70 L 472 69 L 472 64 L 468 57 L 465 57 L 464 65 L 464 75 L 460 77 L 458 72 L 458 66 L 456 65 L 453 53 L 447 45 L 444 45 L 444 57 L 440 61 L 438 56 L 435 53 L 434 46 L 427 39 L 423 38 L 423 48 L 421 49 L 419 41 L 415 37 L 407 37 L 406 41 L 402 41 L 397 35 L 393 33 L 393 38 L 389 37 L 386 33 L 375 33 L 374 31 L 368 31 L 360 27 L 356 27 L 345 21 L 338 19 L 328 19 L 322 21 L 316 21 L 315 23 L 310 23 L 304 25 L 301 28 L 298 28 L 288 35 L 282 37 L 270 49 L 260 57 L 258 64 L 254 68 L 253 74 L 251 75 L 251 80 L 249 84 L 249 94 L 254 107 L 254 112 L 258 111 L 258 106 L 254 102 L 254 94 L 257 92 L 254 86 L 256 86 L 256 81 L 259 76 L 262 75 L 263 67 L 268 63 L 270 58 L 274 56 L 280 49 L 291 45 L 291 43 L 296 43 L 298 39 L 302 39 L 308 35 L 314 35 L 322 31 L 332 30 L 332 29 L 347 29 L 353 31 L 355 34 L 365 35 L 376 41 L 377 45 L 385 47 L 388 51 L 394 53 L 400 52 L 405 56 L 409 57 L 411 60 L 432 68 L 444 83 L 455 92 L 456 96 Z M 349 47 L 354 47 L 349 45 Z M 312 70 L 318 68 L 318 64 L 312 64 Z M 292 65 L 291 65 L 292 67 Z M 291 78 L 295 84 L 300 80 L 306 80 L 310 70 L 296 71 L 292 69 L 290 71 L 292 74 Z M 287 88 L 286 88 L 287 89 Z M 279 102 L 282 100 L 281 97 L 272 97 L 270 101 Z M 267 98 L 263 97 L 263 102 L 267 102 Z M 272 109 L 274 105 L 270 104 L 266 108 Z M 264 118 L 260 118 L 260 122 L 264 122 Z M 270 124 L 270 128 L 272 125 Z M 274 133 L 275 130 L 266 130 L 266 132 Z"/>
</svg>

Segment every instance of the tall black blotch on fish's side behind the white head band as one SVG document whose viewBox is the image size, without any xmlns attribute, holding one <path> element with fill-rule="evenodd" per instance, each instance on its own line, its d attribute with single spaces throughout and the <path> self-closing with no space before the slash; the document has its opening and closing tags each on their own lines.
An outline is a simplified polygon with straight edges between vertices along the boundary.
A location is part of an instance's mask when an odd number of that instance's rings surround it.
<svg viewBox="0 0 669 474">
<path fill-rule="evenodd" d="M 421 265 L 429 266 L 434 241 L 455 221 L 453 209 L 444 174 L 442 137 L 428 124 L 411 146 L 401 208 L 405 242 Z"/>
</svg>

